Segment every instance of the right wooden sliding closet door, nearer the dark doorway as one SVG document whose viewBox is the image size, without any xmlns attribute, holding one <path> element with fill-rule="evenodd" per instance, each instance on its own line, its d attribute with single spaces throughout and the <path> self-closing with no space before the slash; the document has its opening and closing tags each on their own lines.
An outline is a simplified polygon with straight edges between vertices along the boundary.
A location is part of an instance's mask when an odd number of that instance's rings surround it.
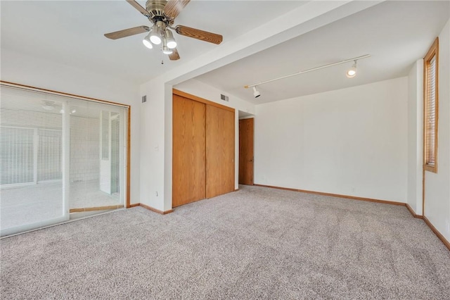
<svg viewBox="0 0 450 300">
<path fill-rule="evenodd" d="M 206 197 L 234 191 L 234 113 L 206 106 Z"/>
</svg>

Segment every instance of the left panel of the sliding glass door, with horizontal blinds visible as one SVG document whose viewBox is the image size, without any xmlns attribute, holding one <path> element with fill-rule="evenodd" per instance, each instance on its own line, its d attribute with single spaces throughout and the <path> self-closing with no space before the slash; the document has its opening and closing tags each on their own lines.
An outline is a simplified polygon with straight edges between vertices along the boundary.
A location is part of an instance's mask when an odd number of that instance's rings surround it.
<svg viewBox="0 0 450 300">
<path fill-rule="evenodd" d="M 63 101 L 6 85 L 0 85 L 0 96 L 0 229 L 5 235 L 65 218 Z"/>
</svg>

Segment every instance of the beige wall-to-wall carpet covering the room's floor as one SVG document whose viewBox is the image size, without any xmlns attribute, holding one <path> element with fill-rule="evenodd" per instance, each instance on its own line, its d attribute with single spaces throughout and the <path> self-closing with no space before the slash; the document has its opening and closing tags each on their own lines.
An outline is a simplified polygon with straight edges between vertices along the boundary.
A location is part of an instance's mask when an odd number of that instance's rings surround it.
<svg viewBox="0 0 450 300">
<path fill-rule="evenodd" d="M 1 239 L 1 299 L 450 299 L 403 206 L 265 187 Z"/>
</svg>

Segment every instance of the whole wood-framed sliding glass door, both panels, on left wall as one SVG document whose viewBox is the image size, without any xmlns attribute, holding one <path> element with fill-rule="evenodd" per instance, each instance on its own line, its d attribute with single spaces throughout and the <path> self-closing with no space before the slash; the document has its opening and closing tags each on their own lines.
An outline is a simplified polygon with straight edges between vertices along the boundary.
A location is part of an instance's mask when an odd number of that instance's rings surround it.
<svg viewBox="0 0 450 300">
<path fill-rule="evenodd" d="M 0 86 L 0 235 L 124 207 L 127 108 Z"/>
</svg>

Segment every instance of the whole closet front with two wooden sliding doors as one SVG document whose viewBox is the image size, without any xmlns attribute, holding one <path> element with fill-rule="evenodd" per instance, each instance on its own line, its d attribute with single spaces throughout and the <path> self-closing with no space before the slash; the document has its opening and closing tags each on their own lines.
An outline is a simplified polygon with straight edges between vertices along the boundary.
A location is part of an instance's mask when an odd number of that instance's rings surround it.
<svg viewBox="0 0 450 300">
<path fill-rule="evenodd" d="M 172 207 L 234 191 L 234 115 L 174 89 Z"/>
</svg>

